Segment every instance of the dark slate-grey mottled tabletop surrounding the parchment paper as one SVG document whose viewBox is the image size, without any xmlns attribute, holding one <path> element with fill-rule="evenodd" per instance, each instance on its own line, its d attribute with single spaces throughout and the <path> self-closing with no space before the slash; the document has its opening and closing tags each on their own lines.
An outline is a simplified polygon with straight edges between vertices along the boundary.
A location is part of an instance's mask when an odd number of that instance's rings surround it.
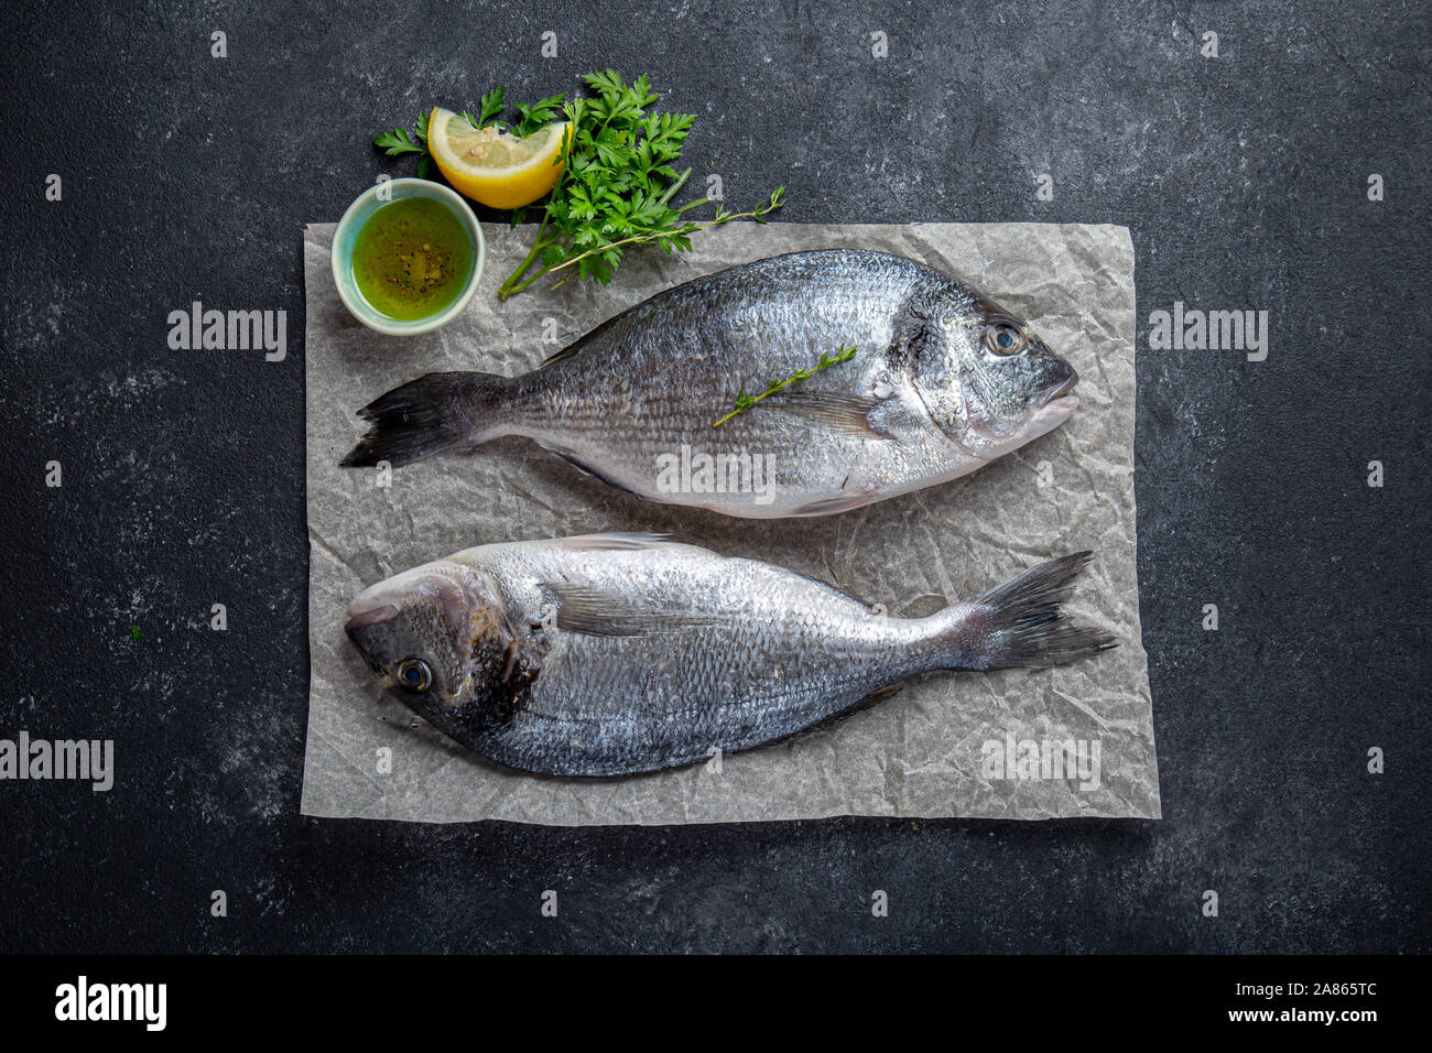
<svg viewBox="0 0 1432 1053">
<path fill-rule="evenodd" d="M 117 754 L 109 794 L 0 784 L 0 950 L 1429 948 L 1425 4 L 113 7 L 7 9 L 0 33 L 0 736 Z M 407 173 L 368 140 L 420 106 L 607 64 L 700 115 L 687 159 L 730 201 L 785 182 L 788 221 L 1133 229 L 1164 821 L 298 815 L 301 225 Z M 170 351 L 193 299 L 285 309 L 288 358 Z M 1176 299 L 1270 311 L 1267 361 L 1147 350 Z"/>
</svg>

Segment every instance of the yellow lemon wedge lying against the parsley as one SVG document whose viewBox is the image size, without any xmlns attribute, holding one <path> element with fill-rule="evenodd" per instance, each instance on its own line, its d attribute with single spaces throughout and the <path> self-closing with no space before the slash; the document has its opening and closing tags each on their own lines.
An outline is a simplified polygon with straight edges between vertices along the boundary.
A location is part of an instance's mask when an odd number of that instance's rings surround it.
<svg viewBox="0 0 1432 1053">
<path fill-rule="evenodd" d="M 561 176 L 563 139 L 570 122 L 538 128 L 526 139 L 488 126 L 473 128 L 460 113 L 432 107 L 428 152 L 460 193 L 491 208 L 521 208 L 547 193 Z"/>
</svg>

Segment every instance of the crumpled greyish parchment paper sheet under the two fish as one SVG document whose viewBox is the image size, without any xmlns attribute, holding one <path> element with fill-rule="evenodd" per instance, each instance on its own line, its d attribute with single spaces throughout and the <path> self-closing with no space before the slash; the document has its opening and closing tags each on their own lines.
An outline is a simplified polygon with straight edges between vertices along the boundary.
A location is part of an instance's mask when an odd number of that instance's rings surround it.
<svg viewBox="0 0 1432 1053">
<path fill-rule="evenodd" d="M 1126 228 L 732 223 L 703 232 L 683 255 L 630 254 L 604 288 L 571 281 L 553 292 L 540 284 L 500 304 L 497 285 L 526 254 L 530 229 L 485 225 L 487 272 L 471 307 L 438 332 L 410 338 L 382 337 L 348 315 L 329 269 L 334 225 L 305 231 L 312 679 L 304 812 L 560 825 L 1158 817 L 1134 562 L 1134 256 Z M 520 438 L 397 468 L 385 487 L 375 470 L 338 467 L 364 431 L 355 410 L 422 372 L 523 372 L 670 285 L 835 246 L 911 256 L 1001 301 L 1078 370 L 1080 410 L 972 476 L 822 519 L 737 520 L 646 503 Z M 932 673 L 833 728 L 727 755 L 719 771 L 707 764 L 599 781 L 521 775 L 468 752 L 387 698 L 344 636 L 348 602 L 417 563 L 488 542 L 599 530 L 664 532 L 800 570 L 909 616 L 1053 556 L 1095 549 L 1070 609 L 1111 629 L 1121 646 L 1061 669 Z M 1083 769 L 1054 768 L 1081 748 Z"/>
</svg>

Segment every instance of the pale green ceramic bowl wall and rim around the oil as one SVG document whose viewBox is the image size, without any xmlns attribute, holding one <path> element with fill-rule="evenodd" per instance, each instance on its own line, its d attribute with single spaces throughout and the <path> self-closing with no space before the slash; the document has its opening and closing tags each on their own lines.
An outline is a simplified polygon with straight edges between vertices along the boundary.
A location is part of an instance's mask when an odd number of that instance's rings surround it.
<svg viewBox="0 0 1432 1053">
<path fill-rule="evenodd" d="M 382 198 L 378 196 L 379 192 L 382 192 Z M 358 284 L 354 281 L 354 242 L 358 239 L 362 225 L 390 201 L 401 201 L 404 198 L 428 198 L 430 201 L 447 205 L 453 211 L 453 215 L 458 218 L 458 222 L 463 223 L 463 229 L 467 231 L 467 236 L 473 244 L 473 272 L 467 277 L 463 291 L 457 299 L 427 318 L 390 318 L 364 299 L 362 292 L 358 291 Z M 477 222 L 473 209 L 468 208 L 467 202 L 455 191 L 428 179 L 388 179 L 359 193 L 358 201 L 344 212 L 344 218 L 338 221 L 338 229 L 334 231 L 332 261 L 334 284 L 338 285 L 338 295 L 354 318 L 369 330 L 387 332 L 391 337 L 412 337 L 447 325 L 463 314 L 473 299 L 473 294 L 477 292 L 478 282 L 483 281 L 483 265 L 487 262 L 487 244 L 483 241 L 481 223 Z"/>
</svg>

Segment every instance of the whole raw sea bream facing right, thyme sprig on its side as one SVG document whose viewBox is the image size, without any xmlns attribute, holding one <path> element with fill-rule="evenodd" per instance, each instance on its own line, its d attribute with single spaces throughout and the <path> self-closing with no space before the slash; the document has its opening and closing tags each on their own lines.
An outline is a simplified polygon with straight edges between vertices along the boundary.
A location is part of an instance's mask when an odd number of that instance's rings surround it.
<svg viewBox="0 0 1432 1053">
<path fill-rule="evenodd" d="M 719 427 L 742 393 L 815 367 Z M 526 436 L 642 497 L 727 516 L 846 511 L 944 483 L 1061 424 L 1073 367 L 944 274 L 793 252 L 677 285 L 520 377 L 430 372 L 359 414 L 345 467 Z"/>
</svg>

